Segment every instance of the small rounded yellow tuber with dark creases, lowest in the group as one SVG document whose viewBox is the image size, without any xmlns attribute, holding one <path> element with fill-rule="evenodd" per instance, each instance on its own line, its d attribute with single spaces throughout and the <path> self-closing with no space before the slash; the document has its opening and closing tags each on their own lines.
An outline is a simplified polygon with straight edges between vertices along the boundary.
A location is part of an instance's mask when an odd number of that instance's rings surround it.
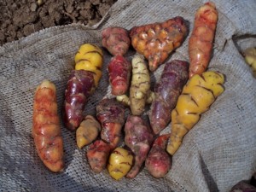
<svg viewBox="0 0 256 192">
<path fill-rule="evenodd" d="M 108 173 L 115 180 L 125 177 L 131 169 L 133 156 L 125 148 L 115 148 L 108 159 Z"/>
</svg>

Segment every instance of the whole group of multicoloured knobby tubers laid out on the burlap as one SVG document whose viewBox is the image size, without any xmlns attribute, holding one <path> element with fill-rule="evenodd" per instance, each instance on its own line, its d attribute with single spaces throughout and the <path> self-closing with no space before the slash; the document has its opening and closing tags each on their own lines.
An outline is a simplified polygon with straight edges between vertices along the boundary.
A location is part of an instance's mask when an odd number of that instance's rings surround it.
<svg viewBox="0 0 256 192">
<path fill-rule="evenodd" d="M 67 81 L 62 119 L 67 129 L 75 131 L 78 148 L 87 146 L 85 156 L 92 171 L 107 168 L 119 180 L 136 177 L 145 165 L 153 177 L 166 176 L 183 137 L 224 91 L 224 74 L 207 71 L 217 20 L 214 3 L 196 11 L 189 61 L 168 61 L 189 34 L 187 21 L 180 16 L 130 31 L 113 26 L 103 29 L 103 49 L 112 55 L 107 71 L 112 96 L 97 103 L 96 117 L 84 115 L 84 108 L 102 78 L 104 55 L 94 44 L 80 46 Z M 130 61 L 126 54 L 131 46 L 137 53 Z M 152 87 L 150 75 L 160 65 L 165 65 L 164 70 Z M 44 165 L 61 172 L 63 141 L 55 100 L 53 83 L 44 81 L 38 86 L 32 133 Z M 168 125 L 170 132 L 162 134 Z"/>
</svg>

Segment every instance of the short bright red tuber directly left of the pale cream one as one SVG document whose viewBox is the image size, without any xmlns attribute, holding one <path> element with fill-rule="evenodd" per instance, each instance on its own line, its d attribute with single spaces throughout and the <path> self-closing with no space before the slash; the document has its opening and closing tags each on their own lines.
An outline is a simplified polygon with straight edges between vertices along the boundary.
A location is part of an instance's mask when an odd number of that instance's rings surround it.
<svg viewBox="0 0 256 192">
<path fill-rule="evenodd" d="M 131 62 L 122 55 L 114 56 L 108 64 L 108 76 L 112 95 L 124 95 L 130 86 Z"/>
</svg>

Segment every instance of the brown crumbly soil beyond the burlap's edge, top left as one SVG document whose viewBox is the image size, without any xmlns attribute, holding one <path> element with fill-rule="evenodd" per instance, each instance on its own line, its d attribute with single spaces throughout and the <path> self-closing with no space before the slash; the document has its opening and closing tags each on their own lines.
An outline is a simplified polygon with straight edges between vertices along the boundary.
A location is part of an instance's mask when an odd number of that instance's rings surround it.
<svg viewBox="0 0 256 192">
<path fill-rule="evenodd" d="M 117 0 L 2 0 L 0 46 L 50 26 L 93 25 Z"/>
</svg>

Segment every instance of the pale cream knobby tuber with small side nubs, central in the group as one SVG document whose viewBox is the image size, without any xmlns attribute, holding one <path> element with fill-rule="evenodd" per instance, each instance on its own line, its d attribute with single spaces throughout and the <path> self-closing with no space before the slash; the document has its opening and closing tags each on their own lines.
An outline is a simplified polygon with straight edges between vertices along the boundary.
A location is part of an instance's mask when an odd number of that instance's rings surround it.
<svg viewBox="0 0 256 192">
<path fill-rule="evenodd" d="M 150 97 L 154 96 L 150 90 L 150 76 L 148 67 L 142 55 L 135 55 L 131 61 L 132 77 L 130 96 L 117 96 L 119 102 L 130 106 L 133 115 L 141 115 L 148 102 L 153 101 Z"/>
</svg>

